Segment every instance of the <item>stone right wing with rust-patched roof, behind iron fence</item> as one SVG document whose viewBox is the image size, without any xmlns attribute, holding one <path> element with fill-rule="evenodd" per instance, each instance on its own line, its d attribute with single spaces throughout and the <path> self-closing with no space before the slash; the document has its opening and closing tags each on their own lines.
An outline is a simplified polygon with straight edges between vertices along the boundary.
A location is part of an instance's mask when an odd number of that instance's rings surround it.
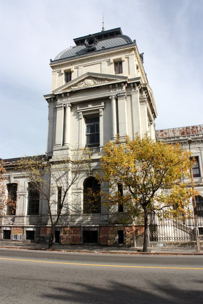
<svg viewBox="0 0 203 304">
<path fill-rule="evenodd" d="M 196 159 L 194 165 L 193 177 L 194 187 L 198 190 L 199 195 L 196 196 L 198 229 L 201 245 L 203 243 L 203 125 L 185 126 L 179 128 L 170 128 L 164 130 L 157 130 L 157 137 L 161 141 L 169 144 L 180 143 L 183 149 L 191 150 L 192 157 Z M 192 139 L 192 143 L 188 144 L 188 139 Z M 181 182 L 187 182 L 183 178 Z M 192 200 L 189 209 L 193 210 Z M 194 244 L 195 240 L 195 225 L 194 215 L 191 214 L 190 219 L 186 220 L 165 220 L 159 221 L 156 219 L 156 236 L 151 233 L 151 240 L 173 242 L 173 245 L 179 244 Z"/>
</svg>

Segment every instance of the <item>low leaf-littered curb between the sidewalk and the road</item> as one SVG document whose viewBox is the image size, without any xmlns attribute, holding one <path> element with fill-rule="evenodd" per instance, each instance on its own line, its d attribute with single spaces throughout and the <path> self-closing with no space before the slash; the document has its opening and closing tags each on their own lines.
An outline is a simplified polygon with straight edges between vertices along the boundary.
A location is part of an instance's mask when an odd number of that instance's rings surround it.
<svg viewBox="0 0 203 304">
<path fill-rule="evenodd" d="M 61 252 L 80 252 L 80 253 L 98 253 L 98 254 L 131 254 L 131 255 L 203 255 L 199 252 L 115 252 L 115 251 L 88 251 L 88 250 L 69 250 L 69 249 L 48 249 L 48 248 L 30 248 L 30 247 L 0 247 L 8 249 L 24 250 L 42 250 L 42 251 L 61 251 Z"/>
</svg>

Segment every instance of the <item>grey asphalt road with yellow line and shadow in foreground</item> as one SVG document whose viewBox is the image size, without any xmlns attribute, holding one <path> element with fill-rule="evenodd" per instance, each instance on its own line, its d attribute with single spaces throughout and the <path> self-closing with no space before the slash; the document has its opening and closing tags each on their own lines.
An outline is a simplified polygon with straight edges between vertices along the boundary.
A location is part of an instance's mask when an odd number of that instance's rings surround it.
<svg viewBox="0 0 203 304">
<path fill-rule="evenodd" d="M 203 256 L 0 249 L 0 281 L 1 304 L 198 304 Z"/>
</svg>

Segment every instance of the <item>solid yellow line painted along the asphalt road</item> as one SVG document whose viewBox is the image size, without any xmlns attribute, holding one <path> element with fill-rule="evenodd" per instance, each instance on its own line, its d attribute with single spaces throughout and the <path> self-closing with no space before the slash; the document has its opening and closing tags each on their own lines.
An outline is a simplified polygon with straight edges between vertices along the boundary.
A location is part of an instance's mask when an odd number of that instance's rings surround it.
<svg viewBox="0 0 203 304">
<path fill-rule="evenodd" d="M 189 268 L 189 267 L 155 267 L 155 266 L 125 266 L 125 265 L 105 265 L 105 264 L 82 264 L 82 263 L 66 263 L 66 262 L 50 262 L 50 261 L 36 261 L 36 260 L 23 260 L 23 259 L 9 259 L 9 258 L 5 258 L 5 257 L 0 257 L 0 260 L 26 261 L 26 262 L 51 263 L 51 264 L 83 265 L 83 266 L 105 266 L 105 267 L 124 267 L 124 268 L 161 268 L 161 269 L 198 269 L 198 270 L 203 270 L 203 268 Z"/>
</svg>

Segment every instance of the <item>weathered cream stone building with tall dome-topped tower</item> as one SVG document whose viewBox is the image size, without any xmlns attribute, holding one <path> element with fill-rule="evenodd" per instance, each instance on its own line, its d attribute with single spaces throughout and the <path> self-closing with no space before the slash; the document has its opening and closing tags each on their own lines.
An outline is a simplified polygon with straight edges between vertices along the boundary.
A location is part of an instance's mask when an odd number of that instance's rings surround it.
<svg viewBox="0 0 203 304">
<path fill-rule="evenodd" d="M 70 196 L 77 194 L 83 211 L 69 211 L 59 220 L 55 243 L 142 246 L 143 226 L 135 229 L 132 223 L 122 224 L 127 216 L 124 207 L 109 210 L 101 203 L 90 214 L 83 206 L 87 188 L 109 191 L 107 184 L 95 183 L 100 152 L 109 140 L 115 140 L 117 133 L 124 140 L 125 134 L 134 139 L 135 133 L 147 132 L 154 140 L 181 141 L 183 145 L 186 137 L 167 137 L 166 130 L 156 133 L 153 92 L 143 67 L 143 53 L 139 54 L 135 40 L 116 28 L 79 37 L 74 42 L 74 47 L 63 50 L 50 62 L 51 92 L 44 95 L 48 103 L 45 158 L 56 161 L 79 143 L 89 147 L 92 160 L 90 170 L 70 189 Z M 202 129 L 201 134 L 198 132 L 192 133 L 195 140 L 202 136 Z M 202 164 L 202 150 L 195 149 Z M 46 242 L 51 229 L 47 206 L 15 170 L 18 161 L 19 158 L 5 160 L 7 195 L 16 195 L 16 212 L 9 214 L 7 210 L 2 218 L 1 239 Z M 198 181 L 202 182 L 202 175 Z"/>
</svg>

